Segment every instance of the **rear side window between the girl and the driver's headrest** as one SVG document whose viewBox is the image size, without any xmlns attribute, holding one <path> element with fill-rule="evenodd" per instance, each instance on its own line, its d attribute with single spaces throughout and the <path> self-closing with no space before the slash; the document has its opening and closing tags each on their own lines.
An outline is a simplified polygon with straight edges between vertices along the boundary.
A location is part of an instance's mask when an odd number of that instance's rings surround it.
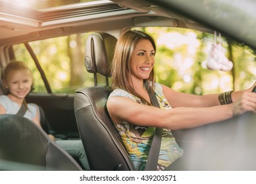
<svg viewBox="0 0 256 184">
<path fill-rule="evenodd" d="M 80 87 L 94 85 L 93 74 L 84 66 L 84 45 L 86 34 L 74 34 L 29 43 L 49 82 L 52 93 L 75 93 Z M 36 64 L 23 43 L 14 45 L 16 60 L 23 60 L 30 66 L 34 77 L 34 93 L 47 93 L 45 83 Z M 97 76 L 99 85 L 105 85 L 105 78 Z"/>
</svg>

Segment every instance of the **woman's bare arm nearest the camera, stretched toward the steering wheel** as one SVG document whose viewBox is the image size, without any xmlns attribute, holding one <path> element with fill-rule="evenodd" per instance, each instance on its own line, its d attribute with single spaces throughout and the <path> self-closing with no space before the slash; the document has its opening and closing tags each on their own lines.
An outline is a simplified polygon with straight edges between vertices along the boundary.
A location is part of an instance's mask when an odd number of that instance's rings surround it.
<svg viewBox="0 0 256 184">
<path fill-rule="evenodd" d="M 253 105 L 256 106 L 256 101 Z M 203 126 L 232 118 L 236 115 L 233 106 L 233 104 L 227 104 L 200 108 L 177 107 L 163 110 L 155 106 L 138 104 L 127 97 L 111 97 L 107 101 L 107 109 L 115 124 L 126 121 L 138 126 L 165 127 L 172 130 Z M 249 110 L 249 108 L 245 110 L 239 104 L 236 109 L 238 114 Z M 255 109 L 251 110 L 255 112 Z"/>
</svg>

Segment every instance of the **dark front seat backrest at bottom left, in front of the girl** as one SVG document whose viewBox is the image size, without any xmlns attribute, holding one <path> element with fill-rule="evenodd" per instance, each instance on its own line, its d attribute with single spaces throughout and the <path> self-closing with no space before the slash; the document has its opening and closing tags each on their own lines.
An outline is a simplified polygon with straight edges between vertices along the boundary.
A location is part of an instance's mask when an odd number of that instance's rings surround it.
<svg viewBox="0 0 256 184">
<path fill-rule="evenodd" d="M 0 115 L 0 170 L 82 170 L 34 122 L 16 114 Z"/>
</svg>

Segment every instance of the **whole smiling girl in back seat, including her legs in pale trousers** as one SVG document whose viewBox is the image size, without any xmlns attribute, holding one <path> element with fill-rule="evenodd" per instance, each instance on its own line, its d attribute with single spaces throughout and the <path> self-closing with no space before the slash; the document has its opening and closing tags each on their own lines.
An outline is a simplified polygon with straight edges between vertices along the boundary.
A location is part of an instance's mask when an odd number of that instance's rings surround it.
<svg viewBox="0 0 256 184">
<path fill-rule="evenodd" d="M 36 104 L 26 103 L 25 97 L 32 90 L 32 72 L 22 61 L 13 61 L 7 64 L 3 73 L 3 87 L 7 95 L 0 96 L 0 114 L 17 114 L 22 104 L 26 107 L 25 118 L 32 120 L 41 127 L 39 108 Z M 55 141 L 53 135 L 49 137 Z M 68 152 L 75 160 L 80 161 L 84 170 L 89 169 L 88 160 L 80 140 L 56 140 L 56 143 Z"/>
</svg>

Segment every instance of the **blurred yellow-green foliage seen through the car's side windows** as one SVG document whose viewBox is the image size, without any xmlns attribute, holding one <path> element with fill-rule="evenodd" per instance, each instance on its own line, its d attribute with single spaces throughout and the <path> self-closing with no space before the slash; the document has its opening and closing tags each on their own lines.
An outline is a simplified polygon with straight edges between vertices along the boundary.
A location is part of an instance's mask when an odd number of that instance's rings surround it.
<svg viewBox="0 0 256 184">
<path fill-rule="evenodd" d="M 155 38 L 157 81 L 176 91 L 203 95 L 245 89 L 256 80 L 256 62 L 249 47 L 222 37 L 223 52 L 234 64 L 230 72 L 208 70 L 207 55 L 214 35 L 181 28 L 135 28 Z M 90 33 L 30 42 L 53 93 L 74 93 L 94 85 L 84 66 L 84 45 Z M 23 44 L 14 45 L 16 60 L 24 60 L 34 76 L 34 93 L 47 93 L 34 60 Z M 105 78 L 98 76 L 99 85 Z"/>
</svg>

